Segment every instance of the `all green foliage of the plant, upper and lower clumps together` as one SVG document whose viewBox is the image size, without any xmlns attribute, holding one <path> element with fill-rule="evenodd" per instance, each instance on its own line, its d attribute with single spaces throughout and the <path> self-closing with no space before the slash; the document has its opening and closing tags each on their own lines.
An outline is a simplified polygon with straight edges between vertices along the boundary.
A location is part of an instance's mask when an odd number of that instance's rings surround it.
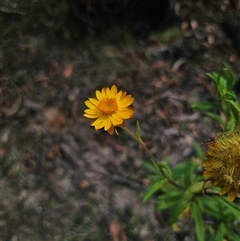
<svg viewBox="0 0 240 241">
<path fill-rule="evenodd" d="M 217 101 L 201 101 L 192 107 L 216 120 L 225 131 L 239 128 L 240 104 L 233 92 L 236 83 L 234 74 L 224 65 L 220 73 L 207 75 L 216 85 Z M 137 138 L 140 138 L 139 133 L 138 123 Z M 226 197 L 219 196 L 216 189 L 207 189 L 205 195 L 202 194 L 203 189 L 211 187 L 211 184 L 205 183 L 202 175 L 197 174 L 196 170 L 201 163 L 196 160 L 204 160 L 205 155 L 197 143 L 193 143 L 193 148 L 198 158 L 192 157 L 189 161 L 180 162 L 172 169 L 169 168 L 166 157 L 160 162 L 151 158 L 152 164 L 143 162 L 152 173 L 149 176 L 151 186 L 143 196 L 143 202 L 154 196 L 157 210 L 170 211 L 169 224 L 178 222 L 185 210 L 189 210 L 198 241 L 204 241 L 207 237 L 212 241 L 238 240 L 240 207 L 229 202 Z"/>
</svg>

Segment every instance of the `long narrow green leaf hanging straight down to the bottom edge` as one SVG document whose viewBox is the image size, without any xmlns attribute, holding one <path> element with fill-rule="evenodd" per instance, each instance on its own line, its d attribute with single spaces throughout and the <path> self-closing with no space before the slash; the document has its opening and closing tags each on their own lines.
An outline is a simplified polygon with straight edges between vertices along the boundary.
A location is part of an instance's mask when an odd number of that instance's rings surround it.
<svg viewBox="0 0 240 241">
<path fill-rule="evenodd" d="M 204 233 L 203 218 L 201 215 L 201 211 L 200 211 L 197 203 L 195 203 L 195 202 L 192 204 L 192 216 L 195 221 L 197 239 L 198 239 L 198 241 L 204 241 L 205 233 Z"/>
</svg>

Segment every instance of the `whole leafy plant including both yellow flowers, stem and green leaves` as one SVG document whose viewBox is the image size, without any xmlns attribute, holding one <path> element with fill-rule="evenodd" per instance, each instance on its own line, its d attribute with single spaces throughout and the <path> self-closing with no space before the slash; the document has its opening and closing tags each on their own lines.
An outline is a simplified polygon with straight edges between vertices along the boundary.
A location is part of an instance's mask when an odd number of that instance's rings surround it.
<svg viewBox="0 0 240 241">
<path fill-rule="evenodd" d="M 85 116 L 95 118 L 92 126 L 96 129 L 104 127 L 110 134 L 113 130 L 117 133 L 115 127 L 121 127 L 146 151 L 151 162 L 144 161 L 143 166 L 152 174 L 149 176 L 151 185 L 143 202 L 156 197 L 156 210 L 171 211 L 170 225 L 188 213 L 195 223 L 198 241 L 204 241 L 207 237 L 212 241 L 236 241 L 239 239 L 240 225 L 240 207 L 232 202 L 240 195 L 240 104 L 233 91 L 236 77 L 227 65 L 219 73 L 212 72 L 207 76 L 216 86 L 216 101 L 197 102 L 192 108 L 216 120 L 224 132 L 207 143 L 206 157 L 199 145 L 193 143 L 197 158 L 184 160 L 172 169 L 167 157 L 158 161 L 148 150 L 141 137 L 139 122 L 135 133 L 124 126 L 123 120 L 132 117 L 132 109 L 128 107 L 133 101 L 131 95 L 117 92 L 116 86 L 104 88 L 101 94 L 96 91 L 97 100 L 89 98 L 90 102 L 86 102 L 90 109 L 85 110 Z M 117 111 L 121 113 L 121 121 L 115 115 Z M 203 175 L 196 171 L 201 166 L 204 167 Z"/>
</svg>

